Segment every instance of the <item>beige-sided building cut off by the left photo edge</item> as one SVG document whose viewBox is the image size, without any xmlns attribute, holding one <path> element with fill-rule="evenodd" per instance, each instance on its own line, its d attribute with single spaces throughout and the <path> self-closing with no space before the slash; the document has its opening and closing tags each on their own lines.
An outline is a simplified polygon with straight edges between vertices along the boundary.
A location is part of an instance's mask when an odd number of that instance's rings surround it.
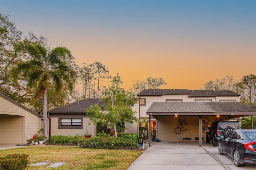
<svg viewBox="0 0 256 170">
<path fill-rule="evenodd" d="M 0 146 L 26 144 L 42 128 L 42 116 L 0 93 Z"/>
</svg>

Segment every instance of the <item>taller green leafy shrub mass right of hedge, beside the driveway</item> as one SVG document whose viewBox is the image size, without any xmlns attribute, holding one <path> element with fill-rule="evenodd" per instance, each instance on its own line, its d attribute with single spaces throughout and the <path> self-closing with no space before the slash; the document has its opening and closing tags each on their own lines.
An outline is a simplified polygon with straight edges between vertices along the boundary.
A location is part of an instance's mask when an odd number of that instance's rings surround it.
<svg viewBox="0 0 256 170">
<path fill-rule="evenodd" d="M 102 132 L 99 133 L 98 136 L 83 141 L 81 147 L 97 149 L 137 149 L 140 146 L 137 144 L 137 136 L 132 134 L 120 138 Z"/>
</svg>

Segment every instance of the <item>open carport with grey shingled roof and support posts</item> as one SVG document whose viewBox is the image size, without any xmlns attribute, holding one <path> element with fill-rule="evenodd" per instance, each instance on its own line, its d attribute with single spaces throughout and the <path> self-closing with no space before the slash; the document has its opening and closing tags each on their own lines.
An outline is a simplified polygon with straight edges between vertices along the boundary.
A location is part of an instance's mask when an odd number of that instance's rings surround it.
<svg viewBox="0 0 256 170">
<path fill-rule="evenodd" d="M 157 125 L 157 128 L 161 126 L 161 131 L 157 130 L 156 135 L 164 136 L 170 134 L 170 127 L 175 127 L 175 123 L 172 120 L 179 116 L 190 117 L 190 124 L 193 124 L 194 128 L 190 130 L 191 135 L 197 135 L 199 133 L 199 146 L 202 146 L 202 118 L 203 117 L 223 117 L 224 120 L 236 119 L 244 116 L 255 116 L 256 109 L 248 105 L 244 105 L 240 102 L 153 102 L 147 111 L 149 115 L 149 125 L 151 123 L 151 117 L 158 120 L 163 120 L 161 125 Z M 166 121 L 169 120 L 169 121 Z M 212 122 L 215 120 L 212 119 Z M 253 121 L 252 121 L 253 122 Z M 199 123 L 199 124 L 198 124 Z M 158 123 L 157 123 L 158 124 Z M 199 128 L 198 128 L 198 127 Z M 149 127 L 150 129 L 151 127 Z M 165 128 L 165 130 L 164 130 Z M 168 129 L 167 129 L 168 128 Z M 198 128 L 198 129 L 195 129 Z M 194 133 L 193 133 L 194 130 Z M 159 134 L 158 134 L 159 133 Z M 150 136 L 150 130 L 148 132 Z M 179 136 L 180 137 L 180 136 Z M 177 138 L 179 138 L 177 137 Z M 186 138 L 185 138 L 186 139 Z M 168 140 L 168 138 L 166 138 Z M 172 141 L 170 141 L 172 142 Z M 150 146 L 150 141 L 149 141 Z"/>
</svg>

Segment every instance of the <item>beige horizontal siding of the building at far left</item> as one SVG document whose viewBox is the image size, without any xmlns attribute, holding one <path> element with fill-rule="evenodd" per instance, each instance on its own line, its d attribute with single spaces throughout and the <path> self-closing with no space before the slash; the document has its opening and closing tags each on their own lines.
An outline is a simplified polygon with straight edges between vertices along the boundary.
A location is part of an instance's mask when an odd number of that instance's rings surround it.
<svg viewBox="0 0 256 170">
<path fill-rule="evenodd" d="M 10 120 L 2 119 L 2 117 L 6 117 L 6 115 L 15 115 L 13 117 L 9 117 Z M 41 128 L 41 119 L 36 115 L 14 105 L 12 102 L 7 101 L 6 99 L 0 97 L 0 116 L 1 116 L 1 134 L 0 141 L 2 143 L 2 139 L 4 138 L 5 133 L 12 133 L 12 128 L 16 129 L 15 135 L 20 135 L 20 129 L 22 129 L 22 140 L 20 143 L 16 144 L 26 144 L 29 138 L 32 138 L 33 134 L 38 133 L 38 130 Z M 12 128 L 8 125 L 8 122 L 16 121 L 15 119 L 19 117 L 22 119 L 22 126 L 16 123 L 11 124 Z M 13 119 L 13 120 L 12 120 Z M 12 133 L 14 134 L 14 133 Z"/>
</svg>

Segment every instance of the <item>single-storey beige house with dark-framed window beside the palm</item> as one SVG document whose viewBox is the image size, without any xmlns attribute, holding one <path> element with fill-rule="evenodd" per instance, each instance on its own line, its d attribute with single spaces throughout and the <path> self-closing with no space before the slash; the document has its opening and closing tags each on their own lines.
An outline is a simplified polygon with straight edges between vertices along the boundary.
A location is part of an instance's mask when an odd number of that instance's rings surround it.
<svg viewBox="0 0 256 170">
<path fill-rule="evenodd" d="M 70 135 L 90 133 L 96 136 L 96 126 L 90 123 L 90 119 L 86 115 L 86 109 L 92 105 L 98 104 L 102 107 L 104 102 L 100 98 L 87 98 L 80 101 L 70 103 L 61 107 L 57 107 L 47 111 L 50 119 L 50 136 L 53 135 Z M 134 120 L 133 120 L 134 121 Z M 137 133 L 137 125 L 126 125 L 128 127 L 125 133 Z"/>
</svg>

